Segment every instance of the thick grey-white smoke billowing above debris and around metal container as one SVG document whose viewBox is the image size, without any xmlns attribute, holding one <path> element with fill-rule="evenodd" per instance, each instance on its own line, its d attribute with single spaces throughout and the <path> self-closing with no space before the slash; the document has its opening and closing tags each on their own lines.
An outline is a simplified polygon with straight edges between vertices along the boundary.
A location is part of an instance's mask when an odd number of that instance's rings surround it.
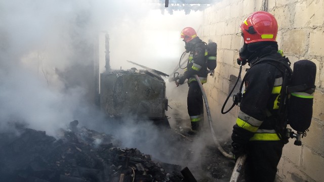
<svg viewBox="0 0 324 182">
<path fill-rule="evenodd" d="M 105 32 L 112 69 L 142 69 L 130 60 L 167 74 L 173 71 L 184 51 L 180 31 L 187 26 L 199 29 L 201 12 L 170 15 L 152 5 L 156 7 L 145 0 L 0 1 L 0 132 L 18 122 L 55 135 L 74 119 L 102 127 L 98 124 L 104 124 L 105 117 L 90 104 L 93 98 L 87 96 L 94 88 L 87 83 L 93 80 L 96 43 L 104 71 Z M 186 92 L 180 93 L 186 100 Z M 125 147 L 152 152 L 132 134 L 142 132 L 139 127 L 152 128 L 140 136 L 153 144 L 160 140 L 158 129 L 132 119 L 129 123 L 114 134 L 129 133 L 120 136 Z"/>
</svg>

